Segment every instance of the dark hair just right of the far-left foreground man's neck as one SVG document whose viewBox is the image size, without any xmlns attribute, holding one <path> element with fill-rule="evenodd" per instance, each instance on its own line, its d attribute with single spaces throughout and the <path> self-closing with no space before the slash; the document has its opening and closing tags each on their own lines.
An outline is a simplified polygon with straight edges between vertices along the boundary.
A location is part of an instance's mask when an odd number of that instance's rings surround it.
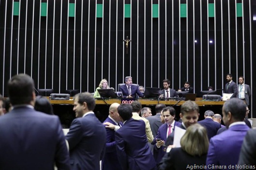
<svg viewBox="0 0 256 170">
<path fill-rule="evenodd" d="M 36 102 L 34 106 L 35 110 L 39 112 L 43 112 L 49 115 L 54 115 L 53 114 L 53 106 L 49 102 L 49 100 L 43 96 L 37 96 L 36 97 Z"/>
</svg>

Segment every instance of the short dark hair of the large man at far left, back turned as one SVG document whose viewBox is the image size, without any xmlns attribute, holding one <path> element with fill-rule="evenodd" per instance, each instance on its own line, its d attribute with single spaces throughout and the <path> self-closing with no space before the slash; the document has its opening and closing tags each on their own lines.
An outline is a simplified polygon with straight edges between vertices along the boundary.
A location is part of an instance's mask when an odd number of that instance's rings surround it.
<svg viewBox="0 0 256 170">
<path fill-rule="evenodd" d="M 13 76 L 7 85 L 12 105 L 29 105 L 33 100 L 34 80 L 27 74 Z"/>
</svg>

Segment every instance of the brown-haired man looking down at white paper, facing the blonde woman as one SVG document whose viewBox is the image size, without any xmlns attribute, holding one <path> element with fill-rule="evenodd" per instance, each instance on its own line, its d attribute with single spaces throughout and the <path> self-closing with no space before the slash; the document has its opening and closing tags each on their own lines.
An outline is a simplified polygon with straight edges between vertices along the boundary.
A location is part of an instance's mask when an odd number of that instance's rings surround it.
<svg viewBox="0 0 256 170">
<path fill-rule="evenodd" d="M 190 125 L 196 124 L 199 118 L 199 106 L 190 100 L 186 101 L 181 105 L 180 118 L 182 119 L 182 124 L 179 126 L 181 129 L 188 128 Z M 174 133 L 171 133 L 166 140 L 166 147 L 173 145 Z M 170 146 L 172 147 L 172 146 Z"/>
</svg>

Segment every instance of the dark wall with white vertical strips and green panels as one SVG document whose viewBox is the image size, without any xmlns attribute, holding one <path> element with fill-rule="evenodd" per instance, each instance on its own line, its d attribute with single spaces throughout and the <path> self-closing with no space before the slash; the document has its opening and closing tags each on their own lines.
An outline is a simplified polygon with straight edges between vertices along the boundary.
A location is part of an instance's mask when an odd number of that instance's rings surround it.
<svg viewBox="0 0 256 170">
<path fill-rule="evenodd" d="M 251 0 L 0 0 L 0 93 L 7 96 L 6 83 L 17 73 L 31 75 L 36 88 L 55 92 L 94 92 L 102 78 L 117 89 L 126 76 L 145 87 L 162 87 L 162 79 L 170 78 L 176 90 L 188 80 L 199 92 L 223 89 L 227 73 L 235 82 L 244 76 L 254 90 L 255 5 Z"/>
</svg>

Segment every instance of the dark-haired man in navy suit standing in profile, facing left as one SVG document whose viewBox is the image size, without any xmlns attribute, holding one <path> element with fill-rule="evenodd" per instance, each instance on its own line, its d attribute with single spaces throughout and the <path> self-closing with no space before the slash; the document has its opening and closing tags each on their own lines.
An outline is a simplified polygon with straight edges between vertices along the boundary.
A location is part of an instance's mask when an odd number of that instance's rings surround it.
<svg viewBox="0 0 256 170">
<path fill-rule="evenodd" d="M 70 146 L 72 170 L 100 170 L 104 156 L 106 130 L 94 115 L 95 100 L 88 92 L 74 96 L 76 119 L 71 123 L 66 139 Z"/>
</svg>

